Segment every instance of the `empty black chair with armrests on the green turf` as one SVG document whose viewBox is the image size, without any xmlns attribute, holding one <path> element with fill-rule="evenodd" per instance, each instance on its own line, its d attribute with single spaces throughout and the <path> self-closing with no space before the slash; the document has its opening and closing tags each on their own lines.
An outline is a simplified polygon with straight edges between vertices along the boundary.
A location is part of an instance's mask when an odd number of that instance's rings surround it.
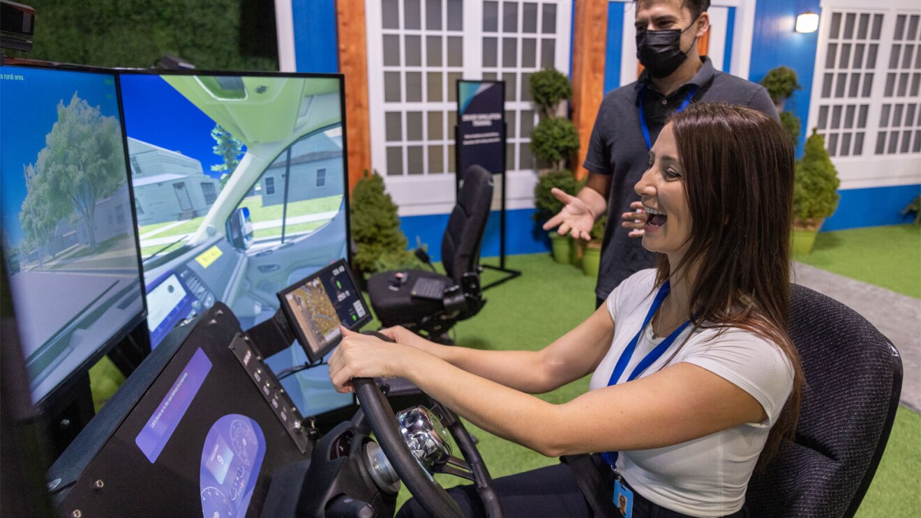
<svg viewBox="0 0 921 518">
<path fill-rule="evenodd" d="M 446 275 L 385 271 L 367 280 L 371 306 L 384 327 L 401 325 L 449 342 L 447 331 L 480 311 L 486 302 L 480 287 L 480 244 L 492 201 L 493 175 L 483 167 L 468 168 L 441 239 Z"/>
</svg>

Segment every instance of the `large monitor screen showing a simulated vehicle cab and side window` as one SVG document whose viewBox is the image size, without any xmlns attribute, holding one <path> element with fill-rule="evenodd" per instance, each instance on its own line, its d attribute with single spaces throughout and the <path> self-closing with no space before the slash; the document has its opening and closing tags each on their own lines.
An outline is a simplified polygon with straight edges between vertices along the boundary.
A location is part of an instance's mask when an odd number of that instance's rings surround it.
<svg viewBox="0 0 921 518">
<path fill-rule="evenodd" d="M 260 324 L 277 292 L 348 258 L 342 75 L 120 80 L 152 347 L 217 301 Z M 268 359 L 276 372 L 305 362 L 300 347 Z M 311 395 L 299 409 L 352 402 L 322 370 L 284 380 Z"/>
</svg>

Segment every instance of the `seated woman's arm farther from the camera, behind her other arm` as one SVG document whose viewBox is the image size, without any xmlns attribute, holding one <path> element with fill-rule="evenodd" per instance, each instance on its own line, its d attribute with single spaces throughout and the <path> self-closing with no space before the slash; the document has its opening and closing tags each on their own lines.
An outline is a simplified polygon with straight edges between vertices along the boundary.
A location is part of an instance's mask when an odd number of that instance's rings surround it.
<svg viewBox="0 0 921 518">
<path fill-rule="evenodd" d="M 605 305 L 540 351 L 484 351 L 433 343 L 404 328 L 382 331 L 398 343 L 495 383 L 542 394 L 595 370 L 611 347 L 614 323 Z"/>
</svg>

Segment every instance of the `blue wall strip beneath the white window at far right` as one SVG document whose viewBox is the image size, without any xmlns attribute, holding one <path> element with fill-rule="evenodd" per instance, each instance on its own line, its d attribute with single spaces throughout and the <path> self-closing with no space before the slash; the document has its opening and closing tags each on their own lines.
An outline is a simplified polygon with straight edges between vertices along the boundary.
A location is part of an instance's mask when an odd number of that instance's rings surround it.
<svg viewBox="0 0 921 518">
<path fill-rule="evenodd" d="M 839 190 L 838 210 L 825 220 L 822 232 L 862 226 L 911 223 L 905 205 L 921 194 L 921 185 Z"/>
</svg>

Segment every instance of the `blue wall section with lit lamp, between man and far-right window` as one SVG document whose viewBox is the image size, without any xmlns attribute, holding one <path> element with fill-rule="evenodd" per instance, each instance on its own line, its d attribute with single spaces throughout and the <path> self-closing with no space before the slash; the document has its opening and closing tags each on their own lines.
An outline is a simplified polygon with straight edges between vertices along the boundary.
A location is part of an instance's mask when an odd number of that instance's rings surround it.
<svg viewBox="0 0 921 518">
<path fill-rule="evenodd" d="M 797 155 L 802 155 L 803 144 L 809 133 L 809 105 L 812 92 L 812 75 L 815 70 L 815 52 L 819 45 L 819 31 L 800 34 L 796 26 L 797 15 L 811 11 L 820 13 L 819 0 L 770 0 L 758 2 L 754 15 L 752 35 L 752 63 L 749 79 L 761 81 L 767 71 L 786 65 L 799 76 L 801 90 L 787 99 L 785 111 L 792 111 L 802 125 L 797 145 Z"/>
</svg>

